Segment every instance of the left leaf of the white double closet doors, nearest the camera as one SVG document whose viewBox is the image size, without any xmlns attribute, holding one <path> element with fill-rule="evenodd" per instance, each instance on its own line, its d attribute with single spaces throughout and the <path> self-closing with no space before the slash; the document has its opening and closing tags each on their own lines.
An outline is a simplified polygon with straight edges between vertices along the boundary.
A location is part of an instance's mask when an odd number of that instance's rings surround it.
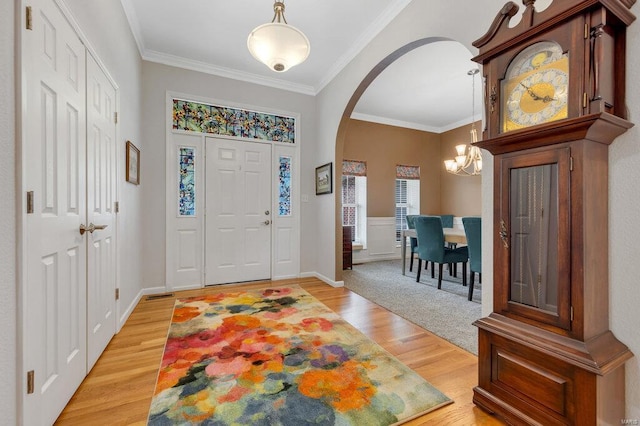
<svg viewBox="0 0 640 426">
<path fill-rule="evenodd" d="M 52 424 L 86 374 L 85 48 L 52 0 L 23 26 L 24 424 Z M 31 197 L 27 197 L 31 198 Z M 25 203 L 29 204 L 29 203 Z"/>
</svg>

